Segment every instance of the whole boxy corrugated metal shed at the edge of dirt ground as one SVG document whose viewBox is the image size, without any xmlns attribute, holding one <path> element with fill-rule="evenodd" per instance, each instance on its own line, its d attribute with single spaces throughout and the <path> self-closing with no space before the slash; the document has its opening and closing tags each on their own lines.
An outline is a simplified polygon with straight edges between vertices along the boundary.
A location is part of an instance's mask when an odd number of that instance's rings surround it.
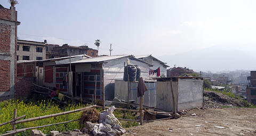
<svg viewBox="0 0 256 136">
<path fill-rule="evenodd" d="M 174 94 L 174 107 L 171 87 Z M 203 77 L 157 79 L 157 108 L 177 111 L 203 106 Z"/>
</svg>

